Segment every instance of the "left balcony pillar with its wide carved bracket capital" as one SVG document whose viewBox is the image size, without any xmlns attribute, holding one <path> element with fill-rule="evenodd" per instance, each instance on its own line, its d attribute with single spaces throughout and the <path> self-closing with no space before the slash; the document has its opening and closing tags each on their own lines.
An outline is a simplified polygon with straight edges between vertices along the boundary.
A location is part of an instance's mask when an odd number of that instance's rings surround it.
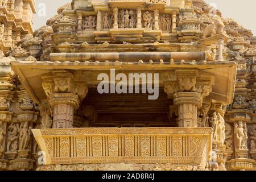
<svg viewBox="0 0 256 182">
<path fill-rule="evenodd" d="M 43 88 L 53 108 L 53 129 L 72 128 L 73 114 L 88 93 L 85 83 L 74 82 L 72 73 L 59 71 L 43 77 Z"/>
</svg>

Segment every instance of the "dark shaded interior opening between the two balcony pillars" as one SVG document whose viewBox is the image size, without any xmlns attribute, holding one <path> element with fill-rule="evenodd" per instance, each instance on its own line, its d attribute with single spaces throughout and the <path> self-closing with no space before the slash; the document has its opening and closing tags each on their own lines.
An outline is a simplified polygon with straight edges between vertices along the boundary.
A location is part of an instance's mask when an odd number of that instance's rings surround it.
<svg viewBox="0 0 256 182">
<path fill-rule="evenodd" d="M 148 94 L 100 94 L 90 89 L 75 113 L 80 119 L 75 127 L 177 127 L 172 99 L 159 88 L 159 98 L 148 100 Z"/>
</svg>

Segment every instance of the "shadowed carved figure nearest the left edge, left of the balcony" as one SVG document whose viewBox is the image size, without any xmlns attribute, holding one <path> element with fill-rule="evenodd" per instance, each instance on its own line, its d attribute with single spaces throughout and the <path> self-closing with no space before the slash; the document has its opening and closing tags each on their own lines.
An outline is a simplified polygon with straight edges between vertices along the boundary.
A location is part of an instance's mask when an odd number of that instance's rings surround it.
<svg viewBox="0 0 256 182">
<path fill-rule="evenodd" d="M 19 134 L 19 125 L 15 124 L 15 123 L 12 123 L 8 127 L 7 152 L 9 152 L 9 151 L 16 152 L 14 143 L 15 142 L 18 143 L 18 141 L 17 141 L 18 140 L 18 134 Z"/>
</svg>

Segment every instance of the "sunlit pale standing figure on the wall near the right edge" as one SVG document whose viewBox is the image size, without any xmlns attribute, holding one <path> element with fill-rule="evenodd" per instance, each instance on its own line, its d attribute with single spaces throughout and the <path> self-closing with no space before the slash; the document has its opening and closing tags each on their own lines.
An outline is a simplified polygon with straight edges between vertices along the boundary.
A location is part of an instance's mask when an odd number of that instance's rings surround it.
<svg viewBox="0 0 256 182">
<path fill-rule="evenodd" d="M 235 133 L 237 138 L 237 146 L 239 149 L 246 149 L 246 142 L 247 142 L 247 133 L 244 129 L 243 123 L 240 121 L 237 125 L 235 125 Z"/>
</svg>

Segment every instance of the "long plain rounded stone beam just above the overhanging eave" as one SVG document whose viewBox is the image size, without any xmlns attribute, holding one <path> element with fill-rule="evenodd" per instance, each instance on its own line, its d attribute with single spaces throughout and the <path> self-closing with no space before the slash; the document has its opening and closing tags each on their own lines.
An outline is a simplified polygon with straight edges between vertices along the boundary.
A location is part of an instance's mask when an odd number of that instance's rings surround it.
<svg viewBox="0 0 256 182">
<path fill-rule="evenodd" d="M 204 52 L 82 52 L 51 53 L 51 61 L 148 61 L 148 60 L 204 60 Z"/>
</svg>

